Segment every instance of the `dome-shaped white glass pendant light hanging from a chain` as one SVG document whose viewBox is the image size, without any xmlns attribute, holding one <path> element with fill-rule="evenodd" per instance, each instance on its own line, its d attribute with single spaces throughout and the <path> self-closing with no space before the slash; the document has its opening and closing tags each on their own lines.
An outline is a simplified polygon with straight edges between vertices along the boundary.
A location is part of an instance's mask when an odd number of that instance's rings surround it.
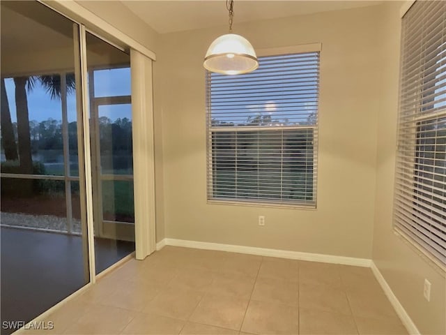
<svg viewBox="0 0 446 335">
<path fill-rule="evenodd" d="M 256 52 L 251 43 L 243 36 L 232 34 L 234 1 L 226 0 L 229 10 L 229 34 L 222 35 L 210 44 L 203 66 L 224 75 L 240 75 L 249 73 L 259 67 Z"/>
</svg>

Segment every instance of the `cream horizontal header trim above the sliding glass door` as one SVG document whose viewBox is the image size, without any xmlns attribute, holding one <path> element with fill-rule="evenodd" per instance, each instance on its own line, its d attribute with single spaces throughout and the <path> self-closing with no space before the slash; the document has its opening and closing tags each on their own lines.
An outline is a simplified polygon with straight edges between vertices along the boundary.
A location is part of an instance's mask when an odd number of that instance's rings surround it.
<svg viewBox="0 0 446 335">
<path fill-rule="evenodd" d="M 102 39 L 108 38 L 109 40 L 118 40 L 124 43 L 128 47 L 134 50 L 138 50 L 146 57 L 156 60 L 155 52 L 148 50 L 141 43 L 137 42 L 127 34 L 124 34 L 121 30 L 109 24 L 98 15 L 95 15 L 84 6 L 73 0 L 39 0 L 44 3 L 45 6 L 56 10 L 62 15 L 68 17 L 70 20 L 80 24 L 84 24 L 90 31 L 94 31 L 94 34 L 101 36 Z M 114 44 L 114 43 L 112 43 Z"/>
</svg>

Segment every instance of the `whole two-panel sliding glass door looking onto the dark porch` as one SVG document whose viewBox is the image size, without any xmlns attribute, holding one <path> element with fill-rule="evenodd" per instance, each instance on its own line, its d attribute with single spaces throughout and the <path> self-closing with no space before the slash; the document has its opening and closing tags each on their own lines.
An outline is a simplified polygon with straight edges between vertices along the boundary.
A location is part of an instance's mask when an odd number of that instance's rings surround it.
<svg viewBox="0 0 446 335">
<path fill-rule="evenodd" d="M 5 325 L 32 320 L 132 253 L 134 199 L 129 54 L 38 1 L 0 6 Z"/>
</svg>

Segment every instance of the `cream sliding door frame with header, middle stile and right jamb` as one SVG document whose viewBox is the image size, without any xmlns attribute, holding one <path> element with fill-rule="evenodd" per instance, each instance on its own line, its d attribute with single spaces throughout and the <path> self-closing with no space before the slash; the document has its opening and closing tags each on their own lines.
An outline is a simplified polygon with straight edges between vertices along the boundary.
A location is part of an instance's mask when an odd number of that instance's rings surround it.
<svg viewBox="0 0 446 335">
<path fill-rule="evenodd" d="M 86 191 L 86 225 L 89 241 L 91 283 L 95 283 L 93 188 L 89 128 L 89 89 L 86 84 L 86 32 L 98 36 L 120 50 L 130 50 L 132 73 L 134 230 L 136 258 L 142 260 L 155 251 L 155 168 L 153 143 L 153 61 L 156 55 L 141 43 L 112 26 L 75 1 L 37 0 L 79 24 L 82 72 L 82 137 Z M 79 147 L 82 148 L 82 147 Z M 79 163 L 82 163 L 79 161 Z M 82 170 L 82 169 L 79 169 Z M 79 171 L 79 177 L 80 171 Z M 82 179 L 81 179 L 82 180 Z M 83 184 L 83 183 L 81 183 Z M 113 265 L 112 265 L 113 266 Z"/>
</svg>

